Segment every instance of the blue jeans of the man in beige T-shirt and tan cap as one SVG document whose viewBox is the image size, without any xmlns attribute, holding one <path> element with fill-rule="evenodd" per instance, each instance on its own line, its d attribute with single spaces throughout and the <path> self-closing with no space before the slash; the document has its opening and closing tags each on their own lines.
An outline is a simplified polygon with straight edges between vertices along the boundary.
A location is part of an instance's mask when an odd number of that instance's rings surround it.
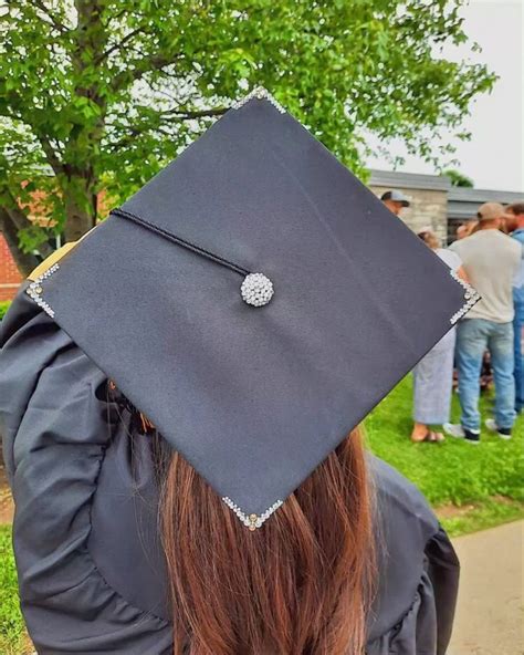
<svg viewBox="0 0 524 655">
<path fill-rule="evenodd" d="M 495 381 L 495 422 L 511 428 L 515 420 L 515 378 L 513 377 L 513 324 L 494 323 L 484 319 L 465 319 L 457 331 L 457 367 L 461 424 L 479 430 L 480 372 L 485 350 L 490 351 Z"/>
</svg>

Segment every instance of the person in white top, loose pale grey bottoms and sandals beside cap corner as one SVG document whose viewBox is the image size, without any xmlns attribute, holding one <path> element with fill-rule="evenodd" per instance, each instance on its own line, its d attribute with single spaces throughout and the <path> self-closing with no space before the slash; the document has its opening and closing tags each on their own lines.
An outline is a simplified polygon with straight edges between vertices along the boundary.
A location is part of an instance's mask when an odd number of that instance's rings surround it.
<svg viewBox="0 0 524 655">
<path fill-rule="evenodd" d="M 419 232 L 418 237 L 450 269 L 468 281 L 460 257 L 452 250 L 441 248 L 440 239 L 434 232 L 427 229 Z M 442 433 L 433 432 L 429 426 L 443 425 L 450 419 L 455 337 L 453 328 L 413 368 L 415 425 L 411 440 L 416 444 L 444 440 Z"/>
</svg>

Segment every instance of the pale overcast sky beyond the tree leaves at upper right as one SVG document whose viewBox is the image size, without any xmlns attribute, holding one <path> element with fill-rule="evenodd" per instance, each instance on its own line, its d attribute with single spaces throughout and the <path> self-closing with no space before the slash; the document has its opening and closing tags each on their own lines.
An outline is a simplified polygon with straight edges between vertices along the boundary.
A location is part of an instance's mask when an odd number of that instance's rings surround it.
<svg viewBox="0 0 524 655">
<path fill-rule="evenodd" d="M 457 142 L 454 157 L 461 173 L 480 189 L 524 191 L 524 0 L 471 0 L 463 8 L 464 31 L 481 48 L 453 49 L 448 56 L 480 61 L 499 75 L 491 94 L 479 96 L 463 127 L 472 133 L 470 142 Z M 406 155 L 401 144 L 394 155 L 406 158 L 398 170 L 434 173 L 432 165 Z M 391 169 L 382 158 L 368 160 L 370 168 Z"/>
</svg>

